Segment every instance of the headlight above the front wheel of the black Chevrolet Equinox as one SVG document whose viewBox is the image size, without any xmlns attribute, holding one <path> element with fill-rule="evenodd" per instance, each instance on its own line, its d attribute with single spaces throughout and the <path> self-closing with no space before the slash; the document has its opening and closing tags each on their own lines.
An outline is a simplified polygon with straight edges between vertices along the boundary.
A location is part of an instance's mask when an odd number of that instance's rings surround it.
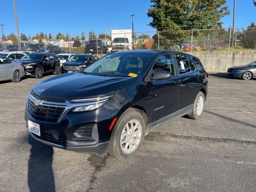
<svg viewBox="0 0 256 192">
<path fill-rule="evenodd" d="M 102 105 L 104 105 L 106 102 L 108 102 L 114 94 L 108 95 L 108 96 L 102 96 L 98 98 L 89 98 L 89 99 L 75 99 L 70 100 L 72 103 L 79 104 L 81 103 L 81 106 L 77 106 L 72 109 L 72 112 L 83 112 L 83 111 L 91 111 L 100 108 Z"/>
</svg>

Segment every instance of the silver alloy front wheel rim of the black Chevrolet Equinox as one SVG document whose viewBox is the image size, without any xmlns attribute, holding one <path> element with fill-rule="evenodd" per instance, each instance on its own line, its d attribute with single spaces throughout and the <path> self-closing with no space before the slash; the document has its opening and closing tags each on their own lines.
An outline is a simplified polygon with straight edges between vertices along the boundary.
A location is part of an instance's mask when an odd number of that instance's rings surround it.
<svg viewBox="0 0 256 192">
<path fill-rule="evenodd" d="M 124 153 L 131 154 L 139 146 L 142 138 L 142 128 L 138 120 L 130 120 L 123 128 L 120 144 Z"/>
</svg>

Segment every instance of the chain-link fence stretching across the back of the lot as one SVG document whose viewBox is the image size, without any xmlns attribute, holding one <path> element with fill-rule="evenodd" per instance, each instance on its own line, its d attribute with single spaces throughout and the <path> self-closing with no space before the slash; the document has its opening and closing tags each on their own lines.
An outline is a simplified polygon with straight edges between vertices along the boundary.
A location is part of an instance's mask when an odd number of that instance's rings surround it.
<svg viewBox="0 0 256 192">
<path fill-rule="evenodd" d="M 135 50 L 153 49 L 182 52 L 256 50 L 256 28 L 156 30 L 134 32 L 133 35 L 131 32 L 115 33 L 115 36 L 117 35 L 128 38 L 130 45 L 132 45 L 133 39 Z M 89 40 L 102 40 L 111 50 L 113 36 L 111 31 L 96 33 L 91 30 L 86 32 L 30 33 L 23 34 L 20 38 L 28 40 L 29 43 L 56 45 L 65 48 L 66 51 L 82 53 L 83 47 Z M 15 37 L 10 37 L 10 35 L 4 40 L 5 44 L 16 44 Z M 1 43 L 3 44 L 3 41 Z M 129 49 L 132 49 L 132 46 Z"/>
</svg>

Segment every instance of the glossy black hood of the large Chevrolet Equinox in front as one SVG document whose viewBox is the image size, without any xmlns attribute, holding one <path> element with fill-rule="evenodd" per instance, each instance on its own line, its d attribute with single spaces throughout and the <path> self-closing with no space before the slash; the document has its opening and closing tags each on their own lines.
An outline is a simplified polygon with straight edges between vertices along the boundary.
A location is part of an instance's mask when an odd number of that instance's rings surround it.
<svg viewBox="0 0 256 192">
<path fill-rule="evenodd" d="M 134 77 L 108 77 L 73 72 L 46 79 L 34 86 L 33 92 L 41 97 L 65 100 L 92 98 L 112 93 L 117 87 L 135 80 Z"/>
</svg>

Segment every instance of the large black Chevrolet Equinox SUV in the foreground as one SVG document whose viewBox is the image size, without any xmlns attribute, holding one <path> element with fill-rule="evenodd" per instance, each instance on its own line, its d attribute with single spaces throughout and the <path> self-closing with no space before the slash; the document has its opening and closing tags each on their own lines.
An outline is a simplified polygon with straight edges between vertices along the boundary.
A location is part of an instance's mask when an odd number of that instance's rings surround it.
<svg viewBox="0 0 256 192">
<path fill-rule="evenodd" d="M 200 118 L 207 87 L 208 73 L 190 54 L 116 52 L 34 86 L 26 128 L 51 146 L 127 159 L 150 131 L 186 114 Z"/>
</svg>

